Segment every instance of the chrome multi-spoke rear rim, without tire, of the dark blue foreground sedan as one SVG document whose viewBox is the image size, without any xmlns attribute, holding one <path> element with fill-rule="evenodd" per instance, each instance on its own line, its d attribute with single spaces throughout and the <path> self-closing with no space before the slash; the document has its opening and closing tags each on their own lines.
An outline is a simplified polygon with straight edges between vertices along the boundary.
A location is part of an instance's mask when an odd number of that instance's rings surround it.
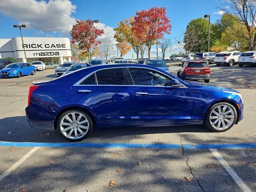
<svg viewBox="0 0 256 192">
<path fill-rule="evenodd" d="M 88 129 L 88 119 L 80 112 L 68 113 L 60 120 L 60 131 L 69 139 L 80 139 Z"/>
</svg>

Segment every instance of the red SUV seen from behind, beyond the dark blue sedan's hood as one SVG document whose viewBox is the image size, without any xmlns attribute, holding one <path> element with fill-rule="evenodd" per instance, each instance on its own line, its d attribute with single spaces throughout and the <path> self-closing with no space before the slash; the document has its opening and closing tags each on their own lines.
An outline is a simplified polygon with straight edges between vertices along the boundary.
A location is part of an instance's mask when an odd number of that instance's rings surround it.
<svg viewBox="0 0 256 192">
<path fill-rule="evenodd" d="M 186 61 L 180 67 L 177 76 L 183 80 L 204 80 L 208 83 L 210 82 L 210 67 L 205 60 Z"/>
</svg>

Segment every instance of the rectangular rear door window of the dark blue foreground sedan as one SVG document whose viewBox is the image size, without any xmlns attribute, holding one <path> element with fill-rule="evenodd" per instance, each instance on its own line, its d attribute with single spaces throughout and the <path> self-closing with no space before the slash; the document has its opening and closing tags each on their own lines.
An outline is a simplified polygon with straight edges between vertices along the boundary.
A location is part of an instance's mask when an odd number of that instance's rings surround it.
<svg viewBox="0 0 256 192">
<path fill-rule="evenodd" d="M 104 69 L 96 72 L 98 85 L 125 85 L 122 68 Z"/>
</svg>

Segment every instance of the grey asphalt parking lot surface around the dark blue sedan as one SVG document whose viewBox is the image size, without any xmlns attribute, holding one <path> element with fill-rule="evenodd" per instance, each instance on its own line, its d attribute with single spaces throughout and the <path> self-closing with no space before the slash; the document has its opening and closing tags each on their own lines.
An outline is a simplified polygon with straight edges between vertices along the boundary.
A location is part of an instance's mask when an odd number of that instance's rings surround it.
<svg viewBox="0 0 256 192">
<path fill-rule="evenodd" d="M 26 120 L 29 86 L 55 78 L 53 69 L 0 79 L 1 191 L 256 191 L 256 68 L 210 67 L 210 83 L 243 96 L 244 120 L 227 132 L 201 126 L 113 128 L 76 143 L 32 129 Z M 170 66 L 172 74 L 178 68 Z M 109 186 L 110 180 L 116 185 Z"/>
</svg>

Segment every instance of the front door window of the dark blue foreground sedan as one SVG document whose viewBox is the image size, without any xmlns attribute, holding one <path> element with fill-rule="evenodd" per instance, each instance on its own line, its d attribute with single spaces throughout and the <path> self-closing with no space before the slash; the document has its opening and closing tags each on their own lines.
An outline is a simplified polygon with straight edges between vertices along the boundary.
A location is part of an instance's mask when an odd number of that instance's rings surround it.
<svg viewBox="0 0 256 192">
<path fill-rule="evenodd" d="M 151 69 L 129 68 L 134 85 L 164 86 L 170 77 Z"/>
</svg>

